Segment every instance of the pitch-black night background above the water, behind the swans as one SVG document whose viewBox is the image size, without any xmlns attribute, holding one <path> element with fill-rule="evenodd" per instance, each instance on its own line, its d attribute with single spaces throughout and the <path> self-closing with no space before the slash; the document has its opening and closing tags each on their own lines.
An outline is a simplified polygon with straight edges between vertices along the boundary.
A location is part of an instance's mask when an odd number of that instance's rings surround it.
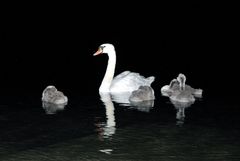
<svg viewBox="0 0 240 161">
<path fill-rule="evenodd" d="M 92 54 L 105 42 L 116 47 L 116 73 L 155 75 L 159 87 L 179 72 L 205 88 L 237 79 L 234 11 L 224 5 L 33 5 L 4 15 L 2 89 L 98 88 L 107 57 Z"/>
</svg>

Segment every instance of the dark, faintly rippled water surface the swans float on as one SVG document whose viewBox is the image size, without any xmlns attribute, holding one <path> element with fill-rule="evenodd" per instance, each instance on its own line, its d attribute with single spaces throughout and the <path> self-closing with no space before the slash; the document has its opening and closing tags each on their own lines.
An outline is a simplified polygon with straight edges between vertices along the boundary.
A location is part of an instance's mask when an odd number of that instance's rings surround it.
<svg viewBox="0 0 240 161">
<path fill-rule="evenodd" d="M 0 160 L 240 159 L 234 101 L 205 95 L 180 109 L 155 93 L 153 107 L 72 93 L 57 111 L 43 109 L 38 94 L 2 97 Z"/>
</svg>

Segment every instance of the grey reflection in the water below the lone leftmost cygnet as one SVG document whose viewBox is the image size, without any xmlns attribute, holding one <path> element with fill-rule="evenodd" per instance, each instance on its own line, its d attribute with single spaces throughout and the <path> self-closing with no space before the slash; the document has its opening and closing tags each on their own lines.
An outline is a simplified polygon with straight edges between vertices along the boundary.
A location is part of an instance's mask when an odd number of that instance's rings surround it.
<svg viewBox="0 0 240 161">
<path fill-rule="evenodd" d="M 54 103 L 42 101 L 42 107 L 45 110 L 46 114 L 48 115 L 56 114 L 58 111 L 64 110 L 66 105 L 67 103 L 54 104 Z"/>
</svg>

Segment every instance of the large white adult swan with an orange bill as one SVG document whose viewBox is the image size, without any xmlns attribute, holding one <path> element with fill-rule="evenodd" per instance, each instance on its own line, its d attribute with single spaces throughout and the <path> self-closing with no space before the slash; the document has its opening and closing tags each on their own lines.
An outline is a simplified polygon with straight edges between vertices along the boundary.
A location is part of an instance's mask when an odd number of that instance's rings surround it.
<svg viewBox="0 0 240 161">
<path fill-rule="evenodd" d="M 154 76 L 145 78 L 139 73 L 125 71 L 114 77 L 116 66 L 116 51 L 112 44 L 102 44 L 94 56 L 106 53 L 109 57 L 105 76 L 99 88 L 100 93 L 109 92 L 121 93 L 132 92 L 137 90 L 140 86 L 150 86 L 155 80 Z"/>
</svg>

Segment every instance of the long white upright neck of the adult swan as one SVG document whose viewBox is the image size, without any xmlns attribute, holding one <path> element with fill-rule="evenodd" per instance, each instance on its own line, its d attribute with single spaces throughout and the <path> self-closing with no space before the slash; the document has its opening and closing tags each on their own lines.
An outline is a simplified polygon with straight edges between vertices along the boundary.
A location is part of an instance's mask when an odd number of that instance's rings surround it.
<svg viewBox="0 0 240 161">
<path fill-rule="evenodd" d="M 108 53 L 108 65 L 106 69 L 106 73 L 104 75 L 104 78 L 102 80 L 102 84 L 99 88 L 99 92 L 110 92 L 111 83 L 113 80 L 114 72 L 115 72 L 115 66 L 116 66 L 116 52 L 110 51 Z"/>
</svg>

